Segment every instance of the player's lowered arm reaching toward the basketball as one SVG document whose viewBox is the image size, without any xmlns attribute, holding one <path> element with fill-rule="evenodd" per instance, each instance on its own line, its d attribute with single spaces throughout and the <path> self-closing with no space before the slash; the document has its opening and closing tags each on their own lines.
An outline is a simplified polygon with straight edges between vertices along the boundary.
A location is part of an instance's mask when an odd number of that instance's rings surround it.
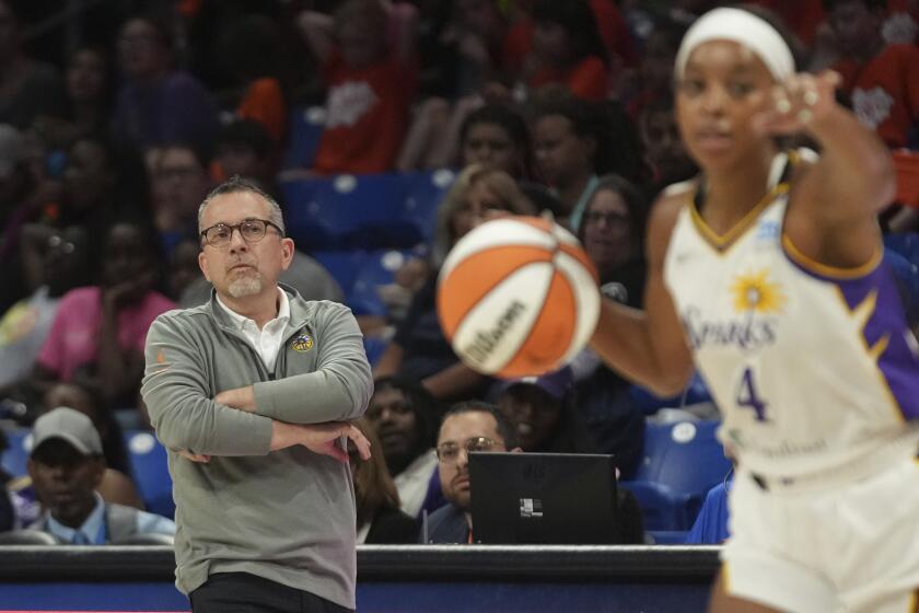
<svg viewBox="0 0 919 613">
<path fill-rule="evenodd" d="M 604 299 L 591 339 L 607 365 L 663 396 L 679 393 L 694 371 L 683 326 L 664 286 L 664 257 L 684 199 L 683 195 L 662 196 L 651 212 L 644 310 Z"/>
</svg>

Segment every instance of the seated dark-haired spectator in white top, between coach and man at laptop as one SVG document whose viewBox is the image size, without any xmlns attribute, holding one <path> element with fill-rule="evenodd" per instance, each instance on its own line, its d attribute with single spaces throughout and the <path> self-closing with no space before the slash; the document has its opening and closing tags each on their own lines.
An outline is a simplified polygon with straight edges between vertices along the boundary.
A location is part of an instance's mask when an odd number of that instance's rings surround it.
<svg viewBox="0 0 919 613">
<path fill-rule="evenodd" d="M 428 497 L 434 455 L 437 403 L 417 382 L 405 377 L 383 377 L 373 383 L 364 418 L 379 437 L 399 493 L 402 510 L 417 518 Z"/>
</svg>

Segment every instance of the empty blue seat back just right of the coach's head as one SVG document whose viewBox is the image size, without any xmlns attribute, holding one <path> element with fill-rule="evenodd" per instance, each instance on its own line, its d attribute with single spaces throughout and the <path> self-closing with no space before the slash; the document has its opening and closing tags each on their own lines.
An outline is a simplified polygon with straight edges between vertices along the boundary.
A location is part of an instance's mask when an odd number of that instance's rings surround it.
<svg viewBox="0 0 919 613">
<path fill-rule="evenodd" d="M 397 174 L 338 175 L 281 184 L 288 233 L 309 252 L 410 247 L 417 231 L 403 215 Z"/>
</svg>

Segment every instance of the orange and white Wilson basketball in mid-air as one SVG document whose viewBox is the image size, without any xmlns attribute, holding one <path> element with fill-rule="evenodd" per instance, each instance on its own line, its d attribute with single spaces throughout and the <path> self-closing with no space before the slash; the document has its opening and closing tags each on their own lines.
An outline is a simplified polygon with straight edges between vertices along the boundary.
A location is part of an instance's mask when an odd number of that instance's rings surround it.
<svg viewBox="0 0 919 613">
<path fill-rule="evenodd" d="M 561 368 L 600 315 L 590 258 L 569 231 L 538 217 L 496 219 L 463 236 L 441 268 L 437 302 L 460 359 L 502 378 Z"/>
</svg>

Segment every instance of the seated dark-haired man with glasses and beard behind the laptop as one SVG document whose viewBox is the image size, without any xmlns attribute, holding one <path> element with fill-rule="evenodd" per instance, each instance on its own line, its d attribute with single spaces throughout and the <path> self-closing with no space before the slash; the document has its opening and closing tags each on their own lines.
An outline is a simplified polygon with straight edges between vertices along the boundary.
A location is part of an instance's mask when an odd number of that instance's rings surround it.
<svg viewBox="0 0 919 613">
<path fill-rule="evenodd" d="M 520 451 L 516 433 L 495 405 L 470 401 L 446 412 L 438 433 L 437 454 L 441 488 L 450 504 L 428 518 L 427 542 L 473 542 L 469 452 L 509 450 Z"/>
</svg>

